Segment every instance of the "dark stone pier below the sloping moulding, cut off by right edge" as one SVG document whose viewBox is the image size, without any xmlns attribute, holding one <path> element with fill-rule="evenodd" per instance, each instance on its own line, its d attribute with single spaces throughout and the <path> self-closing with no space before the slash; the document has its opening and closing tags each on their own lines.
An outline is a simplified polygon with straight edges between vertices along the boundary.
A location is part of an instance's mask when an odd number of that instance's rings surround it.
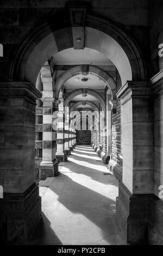
<svg viewBox="0 0 163 256">
<path fill-rule="evenodd" d="M 151 216 L 148 224 L 148 241 L 152 245 L 163 245 L 163 71 L 160 71 L 151 80 L 153 92 L 153 142 L 154 142 L 154 171 L 153 171 L 153 200 L 151 205 Z M 149 133 L 149 132 L 148 132 Z M 160 193 L 160 195 L 159 195 Z"/>
</svg>

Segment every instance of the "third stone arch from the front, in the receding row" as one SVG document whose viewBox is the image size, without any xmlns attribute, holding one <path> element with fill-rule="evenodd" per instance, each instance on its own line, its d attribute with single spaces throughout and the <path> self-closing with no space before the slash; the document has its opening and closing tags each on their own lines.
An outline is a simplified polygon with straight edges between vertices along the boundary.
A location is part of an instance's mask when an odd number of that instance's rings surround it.
<svg viewBox="0 0 163 256">
<path fill-rule="evenodd" d="M 80 95 L 82 93 L 83 93 L 83 89 L 78 89 L 78 90 L 74 90 L 71 94 L 69 94 L 65 99 L 65 107 L 68 107 L 73 97 Z M 96 97 L 96 99 L 99 100 L 99 103 L 101 104 L 102 111 L 105 111 L 105 101 L 99 93 L 95 92 L 95 90 L 87 89 L 87 94 L 90 94 Z"/>
</svg>

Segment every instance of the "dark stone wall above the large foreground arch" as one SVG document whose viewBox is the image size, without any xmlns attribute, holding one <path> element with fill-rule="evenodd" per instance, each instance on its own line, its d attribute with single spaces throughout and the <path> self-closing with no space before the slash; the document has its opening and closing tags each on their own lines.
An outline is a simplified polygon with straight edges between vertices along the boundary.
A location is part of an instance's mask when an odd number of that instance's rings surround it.
<svg viewBox="0 0 163 256">
<path fill-rule="evenodd" d="M 142 52 L 146 53 L 147 32 L 149 21 L 148 0 L 101 0 L 89 1 L 90 7 L 87 15 L 102 16 L 104 19 L 111 19 L 120 26 L 132 33 L 134 40 L 143 46 Z M 161 2 L 157 1 L 157 2 Z M 47 1 L 1 1 L 0 3 L 0 34 L 1 44 L 4 45 L 5 60 L 0 58 L 0 80 L 9 81 L 9 70 L 11 60 L 19 44 L 43 22 L 48 22 L 49 26 L 54 26 L 59 20 L 70 20 L 70 13 L 66 8 L 67 0 Z M 156 15 L 157 16 L 157 15 Z M 10 19 L 8 19 L 10 17 Z M 133 29 L 134 28 L 134 29 Z M 66 29 L 66 34 L 72 35 L 71 29 Z M 67 37 L 68 38 L 68 37 Z M 145 45 L 146 44 L 146 45 Z M 62 42 L 59 41 L 58 50 Z"/>
</svg>

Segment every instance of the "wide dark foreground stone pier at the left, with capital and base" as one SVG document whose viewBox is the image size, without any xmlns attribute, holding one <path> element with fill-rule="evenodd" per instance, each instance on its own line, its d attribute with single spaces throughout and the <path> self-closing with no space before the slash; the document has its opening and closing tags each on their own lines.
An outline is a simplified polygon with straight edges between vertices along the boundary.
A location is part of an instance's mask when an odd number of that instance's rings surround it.
<svg viewBox="0 0 163 256">
<path fill-rule="evenodd" d="M 28 82 L 0 83 L 0 241 L 28 240 L 41 218 L 35 182 L 35 106 Z"/>
</svg>

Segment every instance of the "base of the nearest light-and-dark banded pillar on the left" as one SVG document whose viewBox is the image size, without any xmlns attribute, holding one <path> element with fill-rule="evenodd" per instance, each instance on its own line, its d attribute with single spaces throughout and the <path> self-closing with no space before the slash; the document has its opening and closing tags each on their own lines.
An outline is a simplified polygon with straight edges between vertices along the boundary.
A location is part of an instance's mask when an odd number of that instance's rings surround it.
<svg viewBox="0 0 163 256">
<path fill-rule="evenodd" d="M 40 164 L 40 180 L 46 180 L 48 177 L 58 176 L 58 161 L 54 159 L 52 162 L 42 161 Z"/>
</svg>

